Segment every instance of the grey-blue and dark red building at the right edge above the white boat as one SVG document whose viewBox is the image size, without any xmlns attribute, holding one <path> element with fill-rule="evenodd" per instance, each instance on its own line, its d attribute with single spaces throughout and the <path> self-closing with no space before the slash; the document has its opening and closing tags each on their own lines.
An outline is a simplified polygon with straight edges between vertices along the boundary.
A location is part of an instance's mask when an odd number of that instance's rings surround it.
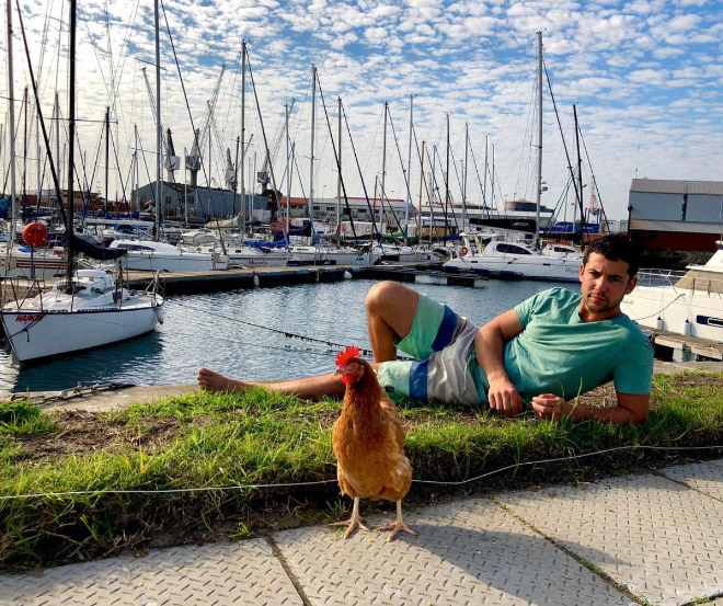
<svg viewBox="0 0 723 606">
<path fill-rule="evenodd" d="M 633 179 L 628 233 L 644 250 L 713 251 L 723 232 L 723 182 Z"/>
</svg>

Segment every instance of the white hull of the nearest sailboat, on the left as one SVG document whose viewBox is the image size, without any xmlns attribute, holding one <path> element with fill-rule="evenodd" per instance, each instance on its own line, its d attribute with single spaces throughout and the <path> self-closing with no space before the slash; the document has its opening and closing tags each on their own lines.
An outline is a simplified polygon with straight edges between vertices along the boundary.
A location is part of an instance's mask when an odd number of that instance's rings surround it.
<svg viewBox="0 0 723 606">
<path fill-rule="evenodd" d="M 134 305 L 92 310 L 3 310 L 0 315 L 20 362 L 107 345 L 138 336 L 162 321 L 159 297 Z"/>
</svg>

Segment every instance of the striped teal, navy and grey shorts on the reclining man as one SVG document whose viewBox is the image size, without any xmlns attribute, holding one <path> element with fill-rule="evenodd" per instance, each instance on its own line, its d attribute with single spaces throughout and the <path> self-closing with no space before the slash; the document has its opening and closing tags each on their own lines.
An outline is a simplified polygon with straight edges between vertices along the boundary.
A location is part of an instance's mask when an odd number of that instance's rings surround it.
<svg viewBox="0 0 723 606">
<path fill-rule="evenodd" d="M 478 327 L 449 307 L 420 294 L 410 333 L 395 343 L 414 361 L 383 362 L 377 377 L 392 399 L 477 404 L 472 376 Z"/>
</svg>

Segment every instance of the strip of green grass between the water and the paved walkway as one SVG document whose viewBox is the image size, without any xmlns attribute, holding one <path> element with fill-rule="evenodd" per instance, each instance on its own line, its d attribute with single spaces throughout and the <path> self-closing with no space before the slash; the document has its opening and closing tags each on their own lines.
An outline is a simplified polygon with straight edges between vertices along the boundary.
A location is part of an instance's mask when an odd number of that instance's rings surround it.
<svg viewBox="0 0 723 606">
<path fill-rule="evenodd" d="M 512 464 L 619 446 L 723 444 L 723 374 L 697 377 L 657 376 L 655 407 L 640 426 L 541 422 L 531 414 L 502 419 L 481 409 L 403 405 L 410 430 L 406 453 L 415 479 L 461 481 Z M 335 401 L 311 403 L 263 390 L 169 398 L 92 419 L 95 431 L 108 436 L 119 432 L 152 439 L 110 439 L 96 451 L 88 451 L 80 443 L 74 450 L 47 455 L 34 445 L 47 446 L 51 438 L 65 436 L 66 447 L 72 441 L 72 426 L 64 421 L 64 413 L 42 412 L 28 402 L 0 404 L 0 496 L 44 495 L 0 501 L 0 567 L 102 557 L 146 547 L 160 533 L 180 541 L 216 531 L 244 538 L 264 524 L 336 518 L 348 503 L 340 500 L 335 481 L 157 494 L 106 491 L 335 480 L 331 427 L 340 409 Z M 720 456 L 721 451 L 715 453 Z M 594 478 L 701 455 L 622 450 L 564 464 L 523 466 L 467 488 Z M 444 491 L 415 484 L 409 500 L 423 503 Z M 51 495 L 59 492 L 85 494 Z"/>
</svg>

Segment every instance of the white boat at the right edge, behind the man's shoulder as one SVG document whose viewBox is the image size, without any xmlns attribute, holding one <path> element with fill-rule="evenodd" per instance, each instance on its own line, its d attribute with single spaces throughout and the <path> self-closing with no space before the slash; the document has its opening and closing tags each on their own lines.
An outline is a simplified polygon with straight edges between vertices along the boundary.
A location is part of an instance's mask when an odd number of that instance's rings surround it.
<svg viewBox="0 0 723 606">
<path fill-rule="evenodd" d="M 723 240 L 705 265 L 642 271 L 621 309 L 643 327 L 723 342 Z"/>
</svg>

